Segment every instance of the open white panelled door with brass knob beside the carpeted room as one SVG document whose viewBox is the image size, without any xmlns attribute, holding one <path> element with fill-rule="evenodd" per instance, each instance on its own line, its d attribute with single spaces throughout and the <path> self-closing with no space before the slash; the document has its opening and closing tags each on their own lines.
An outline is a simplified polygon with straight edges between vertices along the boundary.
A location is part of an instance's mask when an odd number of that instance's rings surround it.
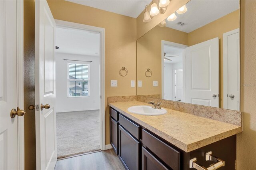
<svg viewBox="0 0 256 170">
<path fill-rule="evenodd" d="M 35 1 L 36 169 L 57 160 L 55 112 L 55 22 L 46 0 Z M 43 108 L 42 106 L 45 106 Z M 50 108 L 49 108 L 50 106 Z"/>
</svg>

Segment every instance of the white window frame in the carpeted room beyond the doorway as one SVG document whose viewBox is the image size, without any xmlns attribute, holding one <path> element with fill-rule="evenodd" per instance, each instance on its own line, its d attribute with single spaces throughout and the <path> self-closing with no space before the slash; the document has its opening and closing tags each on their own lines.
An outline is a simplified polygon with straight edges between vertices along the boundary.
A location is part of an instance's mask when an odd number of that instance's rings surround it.
<svg viewBox="0 0 256 170">
<path fill-rule="evenodd" d="M 69 79 L 69 65 L 70 64 L 84 64 L 84 65 L 88 65 L 88 79 L 84 79 L 84 80 L 80 80 L 80 79 Z M 71 81 L 78 81 L 78 82 L 82 82 L 82 81 L 88 81 L 88 95 L 87 96 L 70 96 L 69 95 L 69 89 L 70 89 L 70 80 Z M 90 63 L 80 63 L 80 62 L 68 62 L 67 63 L 67 97 L 68 98 L 73 98 L 73 97 L 90 97 Z"/>
</svg>

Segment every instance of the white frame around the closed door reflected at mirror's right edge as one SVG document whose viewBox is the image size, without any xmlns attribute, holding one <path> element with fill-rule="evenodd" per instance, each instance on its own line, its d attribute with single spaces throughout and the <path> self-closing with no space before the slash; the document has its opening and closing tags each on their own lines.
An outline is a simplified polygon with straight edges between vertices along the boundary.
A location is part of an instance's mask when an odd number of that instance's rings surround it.
<svg viewBox="0 0 256 170">
<path fill-rule="evenodd" d="M 228 109 L 228 36 L 239 32 L 239 28 L 223 34 L 223 109 Z"/>
</svg>

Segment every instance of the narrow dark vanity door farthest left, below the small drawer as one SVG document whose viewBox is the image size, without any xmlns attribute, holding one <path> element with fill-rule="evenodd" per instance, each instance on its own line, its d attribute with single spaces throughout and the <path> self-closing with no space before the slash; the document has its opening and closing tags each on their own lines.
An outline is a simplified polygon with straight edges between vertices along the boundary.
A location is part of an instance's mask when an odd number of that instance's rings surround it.
<svg viewBox="0 0 256 170">
<path fill-rule="evenodd" d="M 110 144 L 118 155 L 118 123 L 110 117 Z"/>
</svg>

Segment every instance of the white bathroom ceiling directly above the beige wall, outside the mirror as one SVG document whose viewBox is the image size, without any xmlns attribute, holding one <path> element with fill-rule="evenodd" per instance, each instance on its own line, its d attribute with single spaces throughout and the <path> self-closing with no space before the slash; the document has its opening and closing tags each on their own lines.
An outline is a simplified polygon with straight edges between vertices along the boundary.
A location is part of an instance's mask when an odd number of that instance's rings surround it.
<svg viewBox="0 0 256 170">
<path fill-rule="evenodd" d="M 137 18 L 152 0 L 67 0 L 77 4 Z"/>
</svg>

